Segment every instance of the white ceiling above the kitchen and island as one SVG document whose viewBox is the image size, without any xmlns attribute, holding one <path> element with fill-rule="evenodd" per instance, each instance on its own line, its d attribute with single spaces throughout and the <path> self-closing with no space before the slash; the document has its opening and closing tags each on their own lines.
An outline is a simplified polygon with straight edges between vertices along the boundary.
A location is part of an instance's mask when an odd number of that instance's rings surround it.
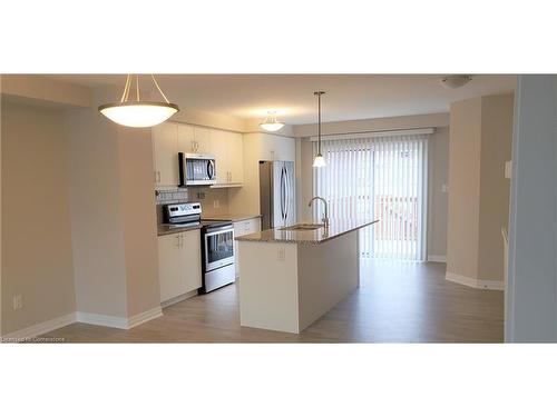
<svg viewBox="0 0 557 417">
<path fill-rule="evenodd" d="M 78 85 L 121 86 L 124 75 L 50 76 Z M 316 121 L 313 91 L 323 90 L 323 121 L 356 120 L 449 111 L 451 102 L 466 98 L 510 92 L 516 76 L 475 76 L 459 89 L 439 83 L 439 75 L 159 75 L 168 100 L 183 109 L 225 113 L 242 119 L 260 118 L 276 110 L 289 125 Z M 141 89 L 152 87 L 140 78 Z M 154 90 L 154 87 L 152 89 Z"/>
</svg>

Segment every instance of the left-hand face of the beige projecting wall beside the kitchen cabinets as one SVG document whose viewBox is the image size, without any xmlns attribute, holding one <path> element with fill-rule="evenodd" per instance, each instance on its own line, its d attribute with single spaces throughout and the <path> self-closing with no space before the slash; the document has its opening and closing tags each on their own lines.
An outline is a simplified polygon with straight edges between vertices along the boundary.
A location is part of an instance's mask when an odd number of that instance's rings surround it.
<svg viewBox="0 0 557 417">
<path fill-rule="evenodd" d="M 77 308 L 127 314 L 116 128 L 94 109 L 66 118 Z"/>
</svg>

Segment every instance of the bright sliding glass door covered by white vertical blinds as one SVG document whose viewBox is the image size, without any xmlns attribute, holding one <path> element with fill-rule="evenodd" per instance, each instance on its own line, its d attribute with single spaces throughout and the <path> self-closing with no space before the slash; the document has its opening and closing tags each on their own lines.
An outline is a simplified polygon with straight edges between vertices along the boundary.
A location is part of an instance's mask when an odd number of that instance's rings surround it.
<svg viewBox="0 0 557 417">
<path fill-rule="evenodd" d="M 324 140 L 325 168 L 314 168 L 314 193 L 331 219 L 372 218 L 360 232 L 363 257 L 426 257 L 428 135 Z"/>
</svg>

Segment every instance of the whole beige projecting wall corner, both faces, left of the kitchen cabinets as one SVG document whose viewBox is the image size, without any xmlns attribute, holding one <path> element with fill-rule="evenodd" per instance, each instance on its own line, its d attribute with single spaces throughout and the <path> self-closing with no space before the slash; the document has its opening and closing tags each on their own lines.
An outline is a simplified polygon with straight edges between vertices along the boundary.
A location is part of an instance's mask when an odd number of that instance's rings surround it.
<svg viewBox="0 0 557 417">
<path fill-rule="evenodd" d="M 90 108 L 68 111 L 66 132 L 78 311 L 128 318 L 159 306 L 150 129 Z"/>
</svg>

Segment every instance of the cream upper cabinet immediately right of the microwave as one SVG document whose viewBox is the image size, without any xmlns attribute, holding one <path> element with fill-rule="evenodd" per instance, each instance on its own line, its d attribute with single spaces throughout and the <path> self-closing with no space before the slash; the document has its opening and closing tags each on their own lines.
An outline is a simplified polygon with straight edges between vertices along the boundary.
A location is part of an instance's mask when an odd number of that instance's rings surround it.
<svg viewBox="0 0 557 417">
<path fill-rule="evenodd" d="M 241 133 L 212 130 L 211 153 L 216 159 L 217 185 L 238 185 L 244 181 L 243 140 Z"/>
</svg>

